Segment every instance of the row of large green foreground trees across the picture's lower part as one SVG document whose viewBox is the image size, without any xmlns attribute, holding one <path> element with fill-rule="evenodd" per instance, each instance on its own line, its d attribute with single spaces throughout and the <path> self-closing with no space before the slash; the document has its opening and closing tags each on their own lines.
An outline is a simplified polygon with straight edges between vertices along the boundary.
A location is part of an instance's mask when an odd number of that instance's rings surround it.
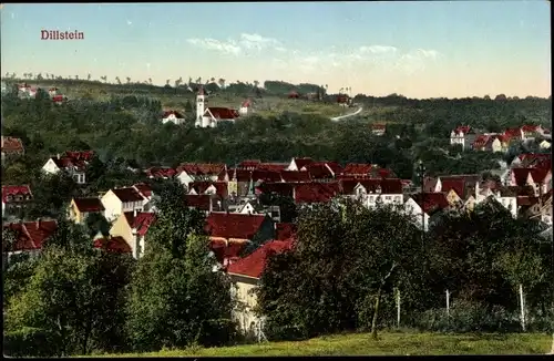
<svg viewBox="0 0 554 361">
<path fill-rule="evenodd" d="M 181 186 L 170 184 L 161 195 L 138 260 L 93 249 L 90 230 L 63 220 L 39 257 L 10 259 L 7 354 L 147 352 L 248 340 L 233 321 L 238 300 L 230 279 L 215 271 L 203 216 L 179 200 Z M 269 255 L 256 290 L 265 336 L 377 334 L 398 326 L 398 297 L 403 328 L 552 331 L 551 244 L 536 237 L 538 223 L 513 219 L 495 203 L 471 215 L 438 215 L 428 236 L 412 220 L 394 208 L 351 202 L 300 209 L 296 245 Z M 2 238 L 9 244 L 13 235 Z"/>
</svg>

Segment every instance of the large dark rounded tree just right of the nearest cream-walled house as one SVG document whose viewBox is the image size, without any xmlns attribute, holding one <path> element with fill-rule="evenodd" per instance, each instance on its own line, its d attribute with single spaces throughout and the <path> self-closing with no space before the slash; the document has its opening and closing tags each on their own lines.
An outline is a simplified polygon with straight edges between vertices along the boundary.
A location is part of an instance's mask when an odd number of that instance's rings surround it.
<svg viewBox="0 0 554 361">
<path fill-rule="evenodd" d="M 376 337 L 383 293 L 421 262 L 409 218 L 332 202 L 302 209 L 297 235 L 293 251 L 270 257 L 261 275 L 258 311 L 271 336 L 293 334 L 294 327 L 304 338 L 355 328 L 371 328 Z"/>
</svg>

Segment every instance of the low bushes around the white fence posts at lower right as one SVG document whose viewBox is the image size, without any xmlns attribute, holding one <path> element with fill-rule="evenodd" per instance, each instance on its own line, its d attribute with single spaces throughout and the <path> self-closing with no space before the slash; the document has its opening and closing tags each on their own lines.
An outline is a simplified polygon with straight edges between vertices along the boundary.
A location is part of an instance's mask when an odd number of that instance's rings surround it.
<svg viewBox="0 0 554 361">
<path fill-rule="evenodd" d="M 517 332 L 520 320 L 515 312 L 500 306 L 456 301 L 450 308 L 431 309 L 420 313 L 416 326 L 425 331 L 439 332 Z"/>
</svg>

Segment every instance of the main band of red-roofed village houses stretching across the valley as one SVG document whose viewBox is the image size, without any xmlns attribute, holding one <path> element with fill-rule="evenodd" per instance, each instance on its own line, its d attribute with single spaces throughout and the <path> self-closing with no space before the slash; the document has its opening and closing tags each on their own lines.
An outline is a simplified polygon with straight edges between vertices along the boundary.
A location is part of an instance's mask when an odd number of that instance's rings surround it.
<svg viewBox="0 0 554 361">
<path fill-rule="evenodd" d="M 93 152 L 65 152 L 47 161 L 45 173 L 68 172 L 79 184 L 85 184 L 84 171 Z M 109 189 L 94 197 L 74 198 L 68 218 L 83 224 L 93 214 L 102 215 L 111 225 L 109 235 L 94 237 L 95 247 L 127 252 L 135 258 L 144 254 L 148 229 L 156 221 L 154 194 L 148 179 L 177 179 L 186 188 L 183 202 L 206 215 L 205 229 L 209 248 L 218 260 L 218 270 L 234 281 L 233 292 L 243 303 L 235 317 L 245 331 L 261 320 L 252 311 L 256 287 L 264 270 L 266 255 L 294 245 L 296 225 L 283 223 L 278 206 L 264 206 L 263 195 L 288 197 L 299 206 L 350 198 L 366 207 L 398 205 L 424 230 L 441 210 L 472 212 L 476 204 L 495 203 L 513 217 L 538 218 L 552 229 L 552 166 L 550 154 L 522 154 L 499 180 L 480 175 L 454 175 L 424 178 L 422 187 L 396 177 L 387 168 L 371 164 L 318 162 L 297 157 L 289 163 L 244 161 L 226 164 L 184 163 L 173 167 L 144 171 L 143 183 Z M 2 186 L 2 212 L 24 207 L 32 202 L 27 185 Z M 42 244 L 57 229 L 55 220 L 4 223 L 16 231 L 17 241 L 4 254 L 39 252 Z M 243 249 L 255 240 L 259 247 L 246 257 Z M 8 256 L 9 257 L 9 256 Z"/>
</svg>

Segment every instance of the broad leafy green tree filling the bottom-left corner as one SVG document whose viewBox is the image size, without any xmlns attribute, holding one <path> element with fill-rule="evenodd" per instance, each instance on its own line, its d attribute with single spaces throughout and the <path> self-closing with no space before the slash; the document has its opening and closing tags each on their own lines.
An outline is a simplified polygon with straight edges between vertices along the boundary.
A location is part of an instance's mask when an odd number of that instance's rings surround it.
<svg viewBox="0 0 554 361">
<path fill-rule="evenodd" d="M 79 228 L 60 226 L 37 260 L 28 286 L 10 302 L 7 330 L 31 329 L 47 334 L 50 342 L 40 350 L 42 355 L 121 349 L 121 296 L 132 260 L 130 256 L 93 251 L 90 238 Z M 86 239 L 86 244 L 74 238 Z M 29 350 L 37 347 L 32 339 L 22 342 L 30 342 Z M 13 347 L 18 345 L 8 344 L 7 349 Z"/>
</svg>

